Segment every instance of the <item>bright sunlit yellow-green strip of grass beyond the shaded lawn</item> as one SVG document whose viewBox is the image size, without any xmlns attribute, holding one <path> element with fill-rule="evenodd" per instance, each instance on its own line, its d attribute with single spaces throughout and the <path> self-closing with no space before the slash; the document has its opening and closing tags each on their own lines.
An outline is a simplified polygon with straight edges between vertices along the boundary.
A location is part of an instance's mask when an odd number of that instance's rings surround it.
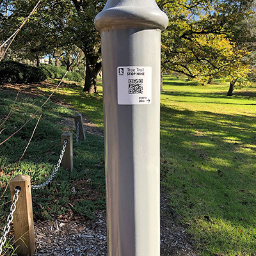
<svg viewBox="0 0 256 256">
<path fill-rule="evenodd" d="M 229 115 L 255 115 L 255 87 L 235 90 L 227 97 L 228 83 L 198 86 L 176 77 L 165 77 L 161 102 L 166 106 Z"/>
</svg>

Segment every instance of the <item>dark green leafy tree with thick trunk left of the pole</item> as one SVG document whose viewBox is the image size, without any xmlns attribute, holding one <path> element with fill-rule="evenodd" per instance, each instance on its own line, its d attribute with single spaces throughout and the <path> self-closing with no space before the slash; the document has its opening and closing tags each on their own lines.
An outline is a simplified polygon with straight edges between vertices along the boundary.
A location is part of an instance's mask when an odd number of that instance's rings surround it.
<svg viewBox="0 0 256 256">
<path fill-rule="evenodd" d="M 29 2 L 29 3 L 28 3 Z M 44 54 L 60 51 L 68 56 L 74 45 L 85 56 L 86 78 L 84 92 L 96 92 L 97 74 L 101 68 L 100 34 L 94 27 L 94 18 L 106 1 L 49 0 L 42 2 L 38 12 L 22 30 L 15 47 L 26 53 L 26 58 L 40 58 Z M 13 1 L 12 24 L 28 15 L 36 3 Z M 68 64 L 68 60 L 66 60 Z"/>
</svg>

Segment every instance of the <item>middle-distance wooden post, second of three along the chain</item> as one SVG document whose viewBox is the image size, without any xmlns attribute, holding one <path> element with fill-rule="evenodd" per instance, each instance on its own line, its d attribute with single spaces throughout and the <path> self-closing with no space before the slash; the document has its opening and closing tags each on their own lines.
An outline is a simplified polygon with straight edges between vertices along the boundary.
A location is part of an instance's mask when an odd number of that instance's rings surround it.
<svg viewBox="0 0 256 256">
<path fill-rule="evenodd" d="M 65 153 L 61 162 L 63 168 L 68 169 L 70 172 L 73 170 L 73 135 L 71 132 L 64 132 L 61 134 L 61 145 L 63 145 L 64 140 L 68 140 Z M 61 146 L 62 147 L 62 146 Z"/>
</svg>

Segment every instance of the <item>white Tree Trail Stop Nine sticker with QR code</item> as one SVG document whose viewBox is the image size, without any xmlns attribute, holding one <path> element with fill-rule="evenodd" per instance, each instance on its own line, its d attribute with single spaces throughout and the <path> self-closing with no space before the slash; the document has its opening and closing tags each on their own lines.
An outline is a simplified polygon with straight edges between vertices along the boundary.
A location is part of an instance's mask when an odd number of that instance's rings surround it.
<svg viewBox="0 0 256 256">
<path fill-rule="evenodd" d="M 119 105 L 151 104 L 152 67 L 118 67 Z"/>
</svg>

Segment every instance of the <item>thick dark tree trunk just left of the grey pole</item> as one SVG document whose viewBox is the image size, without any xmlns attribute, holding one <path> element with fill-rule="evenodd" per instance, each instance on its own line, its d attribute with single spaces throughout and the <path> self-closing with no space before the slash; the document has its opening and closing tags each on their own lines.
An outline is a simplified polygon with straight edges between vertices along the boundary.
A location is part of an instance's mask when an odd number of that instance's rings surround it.
<svg viewBox="0 0 256 256">
<path fill-rule="evenodd" d="M 97 74 L 101 68 L 101 62 L 97 62 L 97 56 L 86 56 L 85 82 L 83 92 L 97 92 Z"/>
</svg>

